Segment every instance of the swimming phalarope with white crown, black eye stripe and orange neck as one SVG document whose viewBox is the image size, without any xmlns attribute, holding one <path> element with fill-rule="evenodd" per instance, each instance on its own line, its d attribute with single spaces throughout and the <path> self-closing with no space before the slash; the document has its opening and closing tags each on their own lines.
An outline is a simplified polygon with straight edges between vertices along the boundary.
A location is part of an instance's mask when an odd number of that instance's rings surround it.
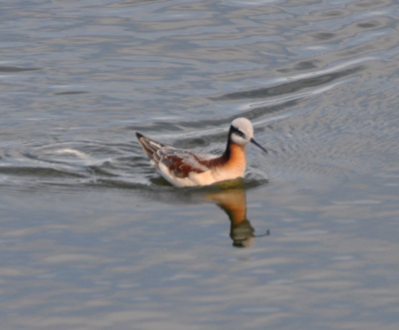
<svg viewBox="0 0 399 330">
<path fill-rule="evenodd" d="M 208 185 L 242 177 L 245 172 L 245 145 L 264 149 L 253 139 L 253 127 L 246 118 L 231 122 L 227 146 L 220 156 L 190 152 L 150 140 L 140 133 L 137 139 L 161 175 L 178 187 Z"/>
</svg>

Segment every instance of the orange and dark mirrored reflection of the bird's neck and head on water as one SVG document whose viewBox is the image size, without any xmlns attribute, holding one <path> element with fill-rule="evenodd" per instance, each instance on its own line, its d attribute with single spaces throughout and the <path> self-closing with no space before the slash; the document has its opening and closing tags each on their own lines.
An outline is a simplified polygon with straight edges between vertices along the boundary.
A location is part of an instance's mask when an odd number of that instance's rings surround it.
<svg viewBox="0 0 399 330">
<path fill-rule="evenodd" d="M 246 195 L 244 189 L 227 189 L 207 194 L 206 197 L 215 201 L 227 213 L 230 219 L 230 238 L 233 241 L 233 246 L 252 246 L 255 238 L 255 229 L 246 218 Z M 261 236 L 267 235 L 269 235 L 269 230 Z"/>
</svg>

